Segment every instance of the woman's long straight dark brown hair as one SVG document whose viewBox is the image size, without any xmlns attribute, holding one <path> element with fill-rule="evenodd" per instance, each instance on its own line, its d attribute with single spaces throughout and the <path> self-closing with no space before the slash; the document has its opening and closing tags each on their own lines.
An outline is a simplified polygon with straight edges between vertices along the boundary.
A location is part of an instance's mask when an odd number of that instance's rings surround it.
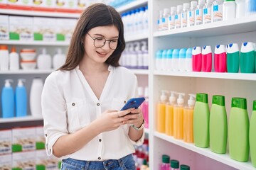
<svg viewBox="0 0 256 170">
<path fill-rule="evenodd" d="M 105 62 L 114 67 L 119 66 L 119 58 L 121 57 L 122 51 L 125 48 L 124 26 L 122 23 L 122 18 L 112 6 L 96 3 L 88 6 L 80 15 L 70 41 L 65 64 L 60 67 L 60 70 L 71 70 L 78 66 L 85 54 L 82 40 L 85 38 L 85 34 L 90 29 L 97 26 L 115 26 L 119 30 L 118 48 L 114 50 L 112 55 L 110 55 Z"/>
</svg>

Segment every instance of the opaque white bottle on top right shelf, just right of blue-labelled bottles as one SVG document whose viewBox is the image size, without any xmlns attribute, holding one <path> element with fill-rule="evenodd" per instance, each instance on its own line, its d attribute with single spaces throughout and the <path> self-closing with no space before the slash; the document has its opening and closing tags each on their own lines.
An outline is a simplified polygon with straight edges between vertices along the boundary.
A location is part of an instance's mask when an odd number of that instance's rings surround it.
<svg viewBox="0 0 256 170">
<path fill-rule="evenodd" d="M 223 21 L 235 18 L 235 0 L 225 0 L 223 3 Z"/>
</svg>

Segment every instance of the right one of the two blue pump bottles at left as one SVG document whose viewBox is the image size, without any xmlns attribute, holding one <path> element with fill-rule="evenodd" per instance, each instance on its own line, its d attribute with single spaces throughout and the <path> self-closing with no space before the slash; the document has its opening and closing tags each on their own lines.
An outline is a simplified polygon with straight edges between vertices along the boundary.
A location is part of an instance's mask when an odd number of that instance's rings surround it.
<svg viewBox="0 0 256 170">
<path fill-rule="evenodd" d="M 16 86 L 15 103 L 16 103 L 16 116 L 22 117 L 27 115 L 27 94 L 26 88 L 23 86 L 25 79 L 18 79 L 18 85 Z"/>
</svg>

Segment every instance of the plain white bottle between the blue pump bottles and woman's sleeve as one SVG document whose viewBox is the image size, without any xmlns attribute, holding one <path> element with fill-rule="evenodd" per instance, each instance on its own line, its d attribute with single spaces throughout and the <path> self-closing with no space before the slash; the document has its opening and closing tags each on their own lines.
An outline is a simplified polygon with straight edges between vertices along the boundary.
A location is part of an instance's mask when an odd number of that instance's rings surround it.
<svg viewBox="0 0 256 170">
<path fill-rule="evenodd" d="M 41 78 L 34 78 L 31 85 L 29 103 L 31 115 L 35 117 L 42 116 L 41 95 L 43 91 L 43 80 Z"/>
</svg>

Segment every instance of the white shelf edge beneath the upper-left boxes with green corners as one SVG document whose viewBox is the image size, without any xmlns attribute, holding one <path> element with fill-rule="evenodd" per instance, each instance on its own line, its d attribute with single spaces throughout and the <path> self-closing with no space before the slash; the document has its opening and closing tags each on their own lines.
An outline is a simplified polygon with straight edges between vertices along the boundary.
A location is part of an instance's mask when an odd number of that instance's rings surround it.
<svg viewBox="0 0 256 170">
<path fill-rule="evenodd" d="M 70 42 L 59 41 L 20 41 L 20 40 L 0 40 L 0 45 L 43 45 L 43 46 L 68 46 Z"/>
</svg>

